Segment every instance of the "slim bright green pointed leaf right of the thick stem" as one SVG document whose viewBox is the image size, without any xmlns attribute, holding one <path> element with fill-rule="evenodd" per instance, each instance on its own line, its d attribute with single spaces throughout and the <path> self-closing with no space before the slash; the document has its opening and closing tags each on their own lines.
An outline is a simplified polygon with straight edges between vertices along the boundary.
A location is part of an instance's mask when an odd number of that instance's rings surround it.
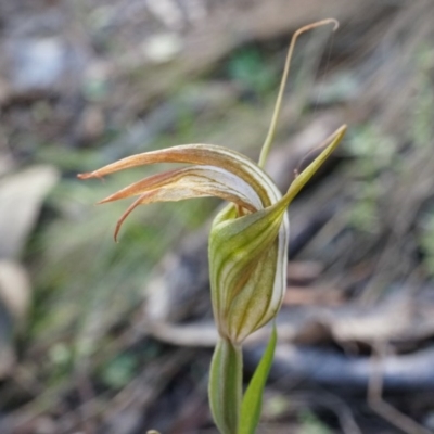
<svg viewBox="0 0 434 434">
<path fill-rule="evenodd" d="M 241 404 L 238 434 L 254 434 L 259 423 L 260 410 L 263 408 L 263 393 L 272 365 L 277 337 L 276 324 L 273 323 L 267 348 L 253 374 Z"/>
</svg>

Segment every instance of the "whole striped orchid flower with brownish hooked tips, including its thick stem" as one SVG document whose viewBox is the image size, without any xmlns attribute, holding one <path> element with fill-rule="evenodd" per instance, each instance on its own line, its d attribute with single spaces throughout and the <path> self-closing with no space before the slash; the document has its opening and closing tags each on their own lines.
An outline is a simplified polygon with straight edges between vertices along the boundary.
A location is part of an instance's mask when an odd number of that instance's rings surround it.
<svg viewBox="0 0 434 434">
<path fill-rule="evenodd" d="M 346 130 L 344 125 L 326 140 L 322 153 L 294 179 L 283 195 L 263 169 L 273 140 L 295 40 L 301 33 L 330 23 L 336 28 L 334 20 L 324 20 L 294 34 L 258 164 L 224 146 L 186 144 L 132 155 L 79 175 L 81 179 L 101 178 L 149 164 L 189 165 L 146 177 L 101 201 L 137 197 L 118 220 L 115 238 L 126 217 L 139 205 L 204 196 L 230 202 L 213 222 L 208 247 L 212 305 L 220 336 L 213 359 L 209 396 L 214 418 L 222 433 L 235 432 L 239 423 L 241 344 L 273 319 L 282 304 L 289 239 L 286 208 L 337 146 Z M 233 381 L 221 382 L 221 375 Z"/>
</svg>

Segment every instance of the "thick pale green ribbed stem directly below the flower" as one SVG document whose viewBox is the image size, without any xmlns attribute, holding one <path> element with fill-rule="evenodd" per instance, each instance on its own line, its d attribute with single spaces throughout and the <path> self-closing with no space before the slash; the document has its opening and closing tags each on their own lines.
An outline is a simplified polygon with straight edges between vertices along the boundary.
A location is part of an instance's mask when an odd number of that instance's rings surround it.
<svg viewBox="0 0 434 434">
<path fill-rule="evenodd" d="M 220 339 L 209 372 L 209 406 L 221 434 L 237 434 L 243 383 L 241 345 Z"/>
</svg>

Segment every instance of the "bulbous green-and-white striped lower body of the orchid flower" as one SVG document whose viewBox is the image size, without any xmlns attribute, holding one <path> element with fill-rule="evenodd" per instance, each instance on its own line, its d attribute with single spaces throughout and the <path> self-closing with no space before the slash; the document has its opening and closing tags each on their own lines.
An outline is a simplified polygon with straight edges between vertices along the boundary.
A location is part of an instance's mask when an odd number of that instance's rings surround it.
<svg viewBox="0 0 434 434">
<path fill-rule="evenodd" d="M 286 286 L 288 238 L 282 202 L 240 218 L 229 205 L 216 217 L 208 254 L 221 336 L 241 343 L 277 314 Z"/>
</svg>

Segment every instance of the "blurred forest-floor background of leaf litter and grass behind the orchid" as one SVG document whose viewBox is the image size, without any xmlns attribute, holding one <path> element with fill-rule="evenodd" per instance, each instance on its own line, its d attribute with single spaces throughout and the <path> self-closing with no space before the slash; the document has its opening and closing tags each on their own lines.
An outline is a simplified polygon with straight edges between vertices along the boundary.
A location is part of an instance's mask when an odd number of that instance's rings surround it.
<svg viewBox="0 0 434 434">
<path fill-rule="evenodd" d="M 219 201 L 94 206 L 180 143 L 258 157 L 290 209 L 289 281 L 260 433 L 434 432 L 432 0 L 0 1 L 0 433 L 215 433 L 206 261 Z M 245 375 L 267 331 L 245 348 Z"/>
</svg>

